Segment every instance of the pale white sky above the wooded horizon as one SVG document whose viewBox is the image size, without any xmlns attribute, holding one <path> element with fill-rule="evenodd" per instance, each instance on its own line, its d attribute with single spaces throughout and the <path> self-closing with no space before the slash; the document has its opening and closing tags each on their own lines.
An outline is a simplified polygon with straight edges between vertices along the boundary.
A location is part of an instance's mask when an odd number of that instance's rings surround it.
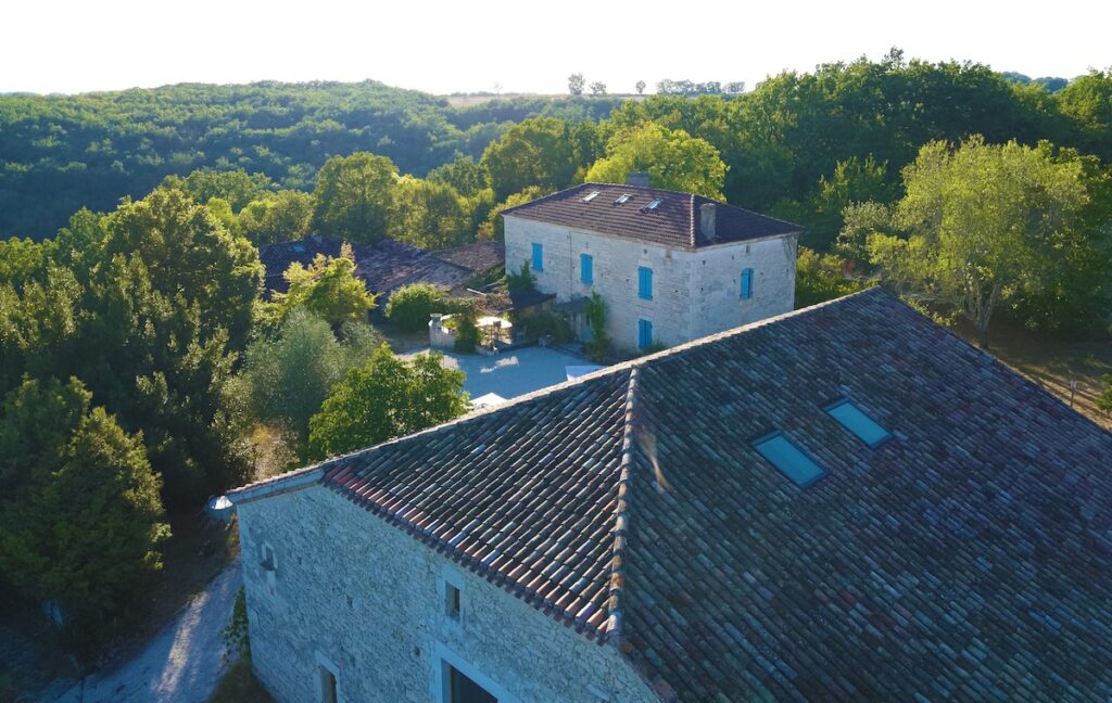
<svg viewBox="0 0 1112 703">
<path fill-rule="evenodd" d="M 664 78 L 752 89 L 893 46 L 1072 78 L 1112 66 L 1110 28 L 1109 0 L 4 0 L 0 92 L 369 78 L 434 93 L 562 93 L 572 72 L 610 92 Z"/>
</svg>

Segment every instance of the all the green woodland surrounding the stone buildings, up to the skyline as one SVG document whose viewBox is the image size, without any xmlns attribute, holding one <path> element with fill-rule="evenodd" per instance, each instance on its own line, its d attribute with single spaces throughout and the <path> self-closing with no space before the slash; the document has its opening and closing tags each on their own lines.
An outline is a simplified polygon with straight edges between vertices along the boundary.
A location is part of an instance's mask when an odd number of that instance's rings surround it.
<svg viewBox="0 0 1112 703">
<path fill-rule="evenodd" d="M 1112 322 L 1112 72 L 1063 87 L 893 51 L 628 101 L 13 96 L 0 160 L 0 585 L 60 604 L 82 652 L 159 568 L 167 508 L 465 410 L 458 372 L 381 344 L 349 259 L 264 300 L 267 242 L 498 238 L 507 207 L 639 170 L 806 225 L 801 305 L 880 283 L 983 342 L 994 313 Z"/>
</svg>

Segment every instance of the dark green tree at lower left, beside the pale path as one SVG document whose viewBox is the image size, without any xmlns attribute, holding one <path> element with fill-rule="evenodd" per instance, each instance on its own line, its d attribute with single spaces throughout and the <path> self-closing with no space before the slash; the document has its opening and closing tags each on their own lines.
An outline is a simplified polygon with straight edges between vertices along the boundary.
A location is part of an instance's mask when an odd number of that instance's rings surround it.
<svg viewBox="0 0 1112 703">
<path fill-rule="evenodd" d="M 161 568 L 169 536 L 159 480 L 77 379 L 27 380 L 0 423 L 0 570 L 24 595 L 53 601 L 79 642 L 96 643 Z"/>
</svg>

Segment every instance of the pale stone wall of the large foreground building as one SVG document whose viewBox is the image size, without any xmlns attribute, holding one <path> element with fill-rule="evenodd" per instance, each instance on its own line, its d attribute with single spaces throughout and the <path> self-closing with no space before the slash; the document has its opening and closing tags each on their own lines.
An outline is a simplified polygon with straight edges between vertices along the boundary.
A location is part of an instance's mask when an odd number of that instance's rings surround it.
<svg viewBox="0 0 1112 703">
<path fill-rule="evenodd" d="M 499 702 L 659 700 L 585 635 L 310 484 L 238 505 L 255 672 L 276 700 L 447 701 L 454 666 Z M 272 554 L 272 569 L 264 562 Z M 460 591 L 449 614 L 447 585 Z"/>
</svg>

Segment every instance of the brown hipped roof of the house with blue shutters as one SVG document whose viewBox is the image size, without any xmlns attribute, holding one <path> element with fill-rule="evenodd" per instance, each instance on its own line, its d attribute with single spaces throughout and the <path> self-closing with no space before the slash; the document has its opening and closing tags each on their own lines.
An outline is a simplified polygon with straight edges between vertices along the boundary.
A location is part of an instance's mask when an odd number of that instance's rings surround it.
<svg viewBox="0 0 1112 703">
<path fill-rule="evenodd" d="M 593 192 L 598 194 L 585 201 L 584 198 Z M 623 195 L 628 198 L 618 202 Z M 661 202 L 652 209 L 647 208 L 655 200 Z M 699 215 L 703 204 L 715 205 L 714 237 L 703 231 Z M 702 195 L 614 183 L 583 183 L 508 208 L 503 214 L 681 249 L 698 249 L 803 231 L 798 224 Z"/>
</svg>

